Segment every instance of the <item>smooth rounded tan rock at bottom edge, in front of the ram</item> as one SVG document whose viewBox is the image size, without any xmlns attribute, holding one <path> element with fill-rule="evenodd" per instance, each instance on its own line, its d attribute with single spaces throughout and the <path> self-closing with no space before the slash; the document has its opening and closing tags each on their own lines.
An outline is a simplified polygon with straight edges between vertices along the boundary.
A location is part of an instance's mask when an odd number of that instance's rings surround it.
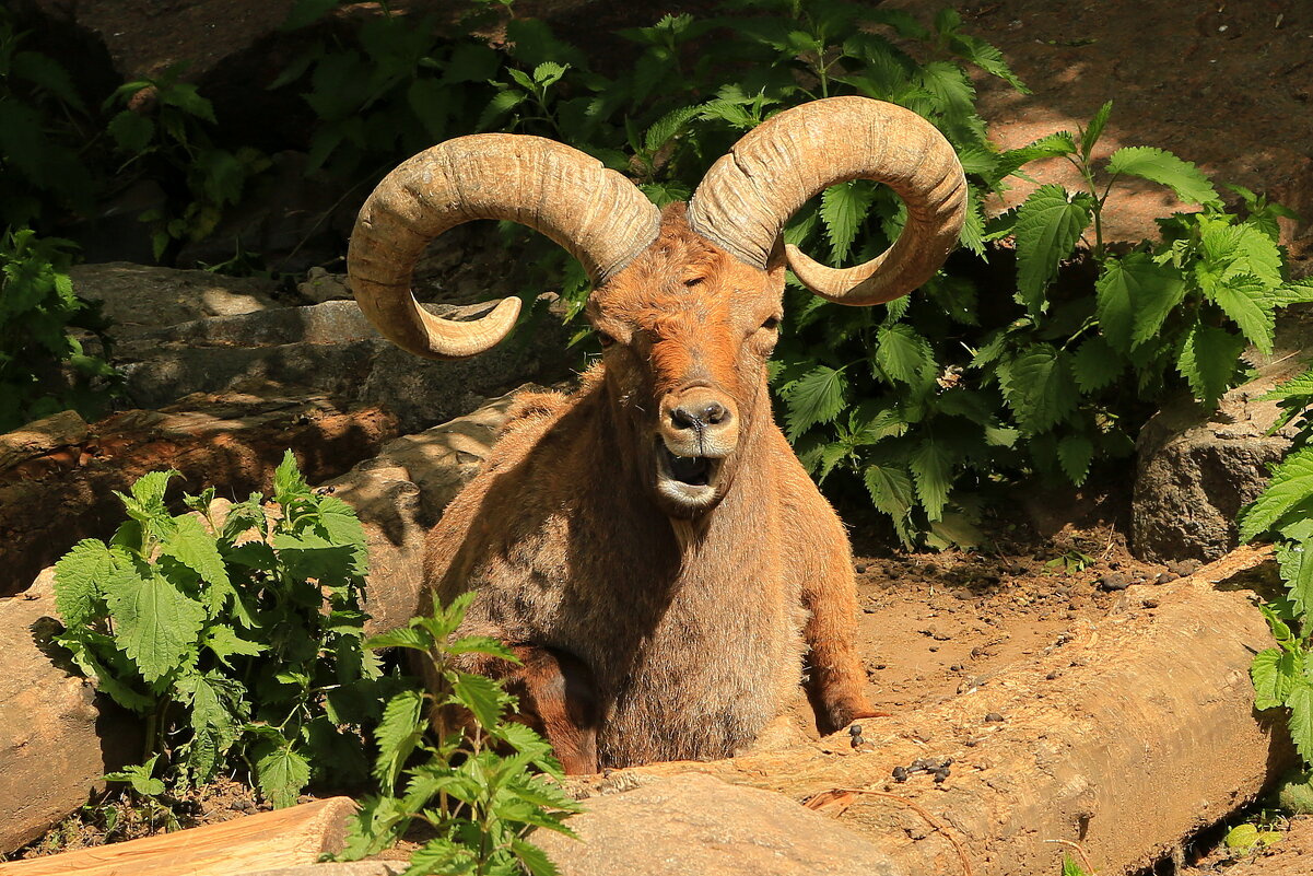
<svg viewBox="0 0 1313 876">
<path fill-rule="evenodd" d="M 784 795 L 700 774 L 592 797 L 567 823 L 583 842 L 540 830 L 562 876 L 899 876 L 871 842 Z"/>
</svg>

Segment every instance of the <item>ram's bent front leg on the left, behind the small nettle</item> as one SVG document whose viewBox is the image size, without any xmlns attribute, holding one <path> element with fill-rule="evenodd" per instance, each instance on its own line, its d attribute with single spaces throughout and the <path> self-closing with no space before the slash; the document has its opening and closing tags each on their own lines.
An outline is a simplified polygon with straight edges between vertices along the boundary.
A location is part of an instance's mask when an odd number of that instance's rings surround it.
<svg viewBox="0 0 1313 876">
<path fill-rule="evenodd" d="M 592 670 L 566 651 L 538 645 L 507 645 L 520 659 L 519 665 L 470 655 L 461 668 L 500 680 L 507 692 L 519 700 L 520 711 L 512 720 L 546 738 L 567 774 L 597 772 L 597 722 L 601 712 Z M 432 665 L 425 666 L 424 682 L 429 690 L 435 690 L 436 683 L 432 675 Z M 433 716 L 435 725 L 442 720 L 442 714 Z M 471 716 L 458 720 L 469 722 Z"/>
</svg>

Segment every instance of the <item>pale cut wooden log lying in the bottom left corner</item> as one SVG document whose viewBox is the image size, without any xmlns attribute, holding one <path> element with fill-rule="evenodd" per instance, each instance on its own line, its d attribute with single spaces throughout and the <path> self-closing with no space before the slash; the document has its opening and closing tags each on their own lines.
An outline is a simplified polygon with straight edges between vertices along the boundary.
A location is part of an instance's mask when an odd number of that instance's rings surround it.
<svg viewBox="0 0 1313 876">
<path fill-rule="evenodd" d="M 0 876 L 235 876 L 312 864 L 345 844 L 351 797 L 330 797 L 218 825 L 0 864 Z"/>
</svg>

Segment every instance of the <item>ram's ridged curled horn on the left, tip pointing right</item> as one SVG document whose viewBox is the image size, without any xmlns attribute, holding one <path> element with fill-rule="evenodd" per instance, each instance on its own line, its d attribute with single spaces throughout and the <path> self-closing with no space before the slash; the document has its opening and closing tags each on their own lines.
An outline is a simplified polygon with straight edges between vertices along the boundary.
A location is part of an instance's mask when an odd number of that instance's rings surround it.
<svg viewBox="0 0 1313 876">
<path fill-rule="evenodd" d="M 509 219 L 548 235 L 605 282 L 656 238 L 660 213 L 629 180 L 579 150 L 524 134 L 458 137 L 404 162 L 366 198 L 347 274 L 360 309 L 418 356 L 461 359 L 515 327 L 519 298 L 470 322 L 429 314 L 411 294 L 429 240 L 462 222 Z"/>
</svg>

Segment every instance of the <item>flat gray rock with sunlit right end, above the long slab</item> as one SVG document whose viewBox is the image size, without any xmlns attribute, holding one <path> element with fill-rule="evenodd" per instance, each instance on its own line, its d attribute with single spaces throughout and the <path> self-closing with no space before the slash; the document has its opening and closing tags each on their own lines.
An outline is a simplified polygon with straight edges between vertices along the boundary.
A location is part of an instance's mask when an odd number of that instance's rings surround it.
<svg viewBox="0 0 1313 876">
<path fill-rule="evenodd" d="M 74 265 L 74 292 L 100 301 L 114 338 L 143 328 L 206 317 L 231 317 L 277 307 L 272 280 L 226 277 L 207 271 L 175 271 L 108 261 Z"/>
</svg>

